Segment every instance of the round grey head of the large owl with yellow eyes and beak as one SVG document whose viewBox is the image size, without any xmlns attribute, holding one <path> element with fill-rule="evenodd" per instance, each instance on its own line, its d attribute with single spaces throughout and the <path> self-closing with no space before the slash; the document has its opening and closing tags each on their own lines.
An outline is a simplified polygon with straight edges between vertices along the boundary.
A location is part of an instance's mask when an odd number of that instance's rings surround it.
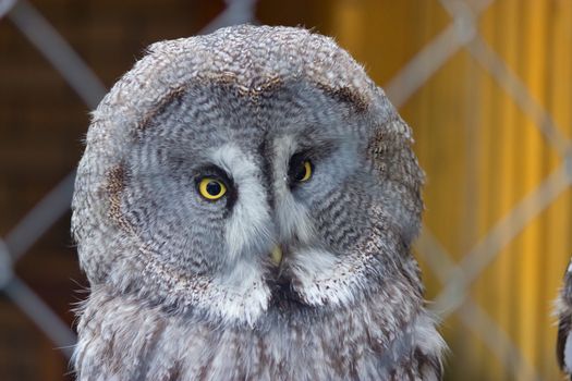
<svg viewBox="0 0 572 381">
<path fill-rule="evenodd" d="M 92 287 L 230 324 L 350 306 L 395 274 L 417 290 L 411 140 L 331 38 L 241 25 L 154 44 L 93 113 L 81 265 Z"/>
</svg>

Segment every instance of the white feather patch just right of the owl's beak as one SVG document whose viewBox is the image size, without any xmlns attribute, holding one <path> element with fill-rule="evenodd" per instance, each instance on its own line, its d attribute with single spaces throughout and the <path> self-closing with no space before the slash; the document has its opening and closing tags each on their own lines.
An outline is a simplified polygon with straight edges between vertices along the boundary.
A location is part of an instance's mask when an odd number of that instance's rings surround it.
<svg viewBox="0 0 572 381">
<path fill-rule="evenodd" d="M 354 300 L 363 266 L 358 261 L 341 261 L 322 249 L 302 249 L 293 253 L 288 266 L 296 280 L 294 291 L 313 306 L 348 305 Z"/>
</svg>

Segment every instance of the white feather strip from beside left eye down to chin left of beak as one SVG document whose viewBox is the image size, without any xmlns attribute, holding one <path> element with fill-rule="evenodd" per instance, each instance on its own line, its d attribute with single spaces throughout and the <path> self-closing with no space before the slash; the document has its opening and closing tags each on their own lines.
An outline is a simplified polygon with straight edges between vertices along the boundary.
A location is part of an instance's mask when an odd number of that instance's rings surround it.
<svg viewBox="0 0 572 381">
<path fill-rule="evenodd" d="M 214 164 L 232 176 L 238 198 L 224 233 L 230 270 L 209 285 L 209 292 L 199 303 L 219 317 L 253 325 L 266 310 L 269 299 L 263 269 L 253 258 L 266 255 L 265 248 L 272 245 L 272 219 L 266 189 L 254 160 L 236 146 L 221 146 L 209 157 Z"/>
</svg>

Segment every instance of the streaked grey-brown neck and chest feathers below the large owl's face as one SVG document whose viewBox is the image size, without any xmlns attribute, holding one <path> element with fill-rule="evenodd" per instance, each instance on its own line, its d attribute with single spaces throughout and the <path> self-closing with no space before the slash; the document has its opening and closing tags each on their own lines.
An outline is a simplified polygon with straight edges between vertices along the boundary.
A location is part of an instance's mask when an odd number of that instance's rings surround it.
<svg viewBox="0 0 572 381">
<path fill-rule="evenodd" d="M 75 366 L 80 376 L 141 380 L 344 379 L 352 372 L 387 379 L 395 364 L 424 358 L 438 365 L 442 348 L 421 297 L 407 287 L 391 282 L 336 308 L 272 304 L 254 328 L 209 321 L 198 311 L 172 316 L 132 295 L 94 288 L 80 319 Z"/>
</svg>

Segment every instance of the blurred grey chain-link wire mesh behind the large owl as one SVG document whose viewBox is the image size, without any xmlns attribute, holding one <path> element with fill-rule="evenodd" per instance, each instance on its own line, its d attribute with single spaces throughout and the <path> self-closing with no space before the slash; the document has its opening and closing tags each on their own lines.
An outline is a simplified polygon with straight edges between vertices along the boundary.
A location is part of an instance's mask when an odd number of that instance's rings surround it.
<svg viewBox="0 0 572 381">
<path fill-rule="evenodd" d="M 427 226 L 424 226 L 417 248 L 443 284 L 433 308 L 442 318 L 457 314 L 460 321 L 482 336 L 484 343 L 504 361 L 504 366 L 514 377 L 524 372 L 527 379 L 539 380 L 537 370 L 522 355 L 518 345 L 478 303 L 471 298 L 468 290 L 500 250 L 569 188 L 572 183 L 570 142 L 523 82 L 479 35 L 478 17 L 492 1 L 476 2 L 472 8 L 464 1 L 441 0 L 440 3 L 449 13 L 451 23 L 384 86 L 392 102 L 398 108 L 404 105 L 454 53 L 464 49 L 534 121 L 546 144 L 552 146 L 561 157 L 562 164 L 506 213 L 458 263 Z M 200 33 L 209 33 L 224 25 L 255 22 L 255 0 L 228 0 L 226 10 Z M 105 94 L 104 85 L 29 2 L 0 2 L 0 19 L 2 17 L 9 19 L 22 32 L 90 109 L 97 106 Z M 74 333 L 14 274 L 12 267 L 49 226 L 68 211 L 73 179 L 72 171 L 17 222 L 4 238 L 0 238 L 0 290 L 66 357 L 71 355 Z"/>
</svg>

